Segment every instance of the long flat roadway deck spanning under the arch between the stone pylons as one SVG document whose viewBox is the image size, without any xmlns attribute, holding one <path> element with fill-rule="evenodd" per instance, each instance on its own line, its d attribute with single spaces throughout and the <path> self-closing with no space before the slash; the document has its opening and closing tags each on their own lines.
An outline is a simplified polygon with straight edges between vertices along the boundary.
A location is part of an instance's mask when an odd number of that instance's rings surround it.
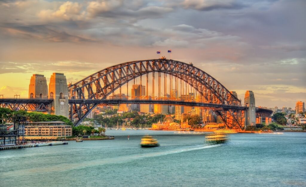
<svg viewBox="0 0 306 187">
<path fill-rule="evenodd" d="M 134 104 L 166 104 L 166 105 L 183 105 L 191 107 L 211 107 L 211 108 L 223 108 L 223 109 L 237 109 L 246 110 L 247 107 L 244 106 L 233 106 L 233 105 L 223 105 L 215 103 L 197 103 L 197 102 L 186 102 L 186 101 L 173 101 L 173 100 L 119 100 L 119 99 L 69 99 L 69 104 L 106 104 L 106 105 L 117 105 L 125 103 Z"/>
</svg>

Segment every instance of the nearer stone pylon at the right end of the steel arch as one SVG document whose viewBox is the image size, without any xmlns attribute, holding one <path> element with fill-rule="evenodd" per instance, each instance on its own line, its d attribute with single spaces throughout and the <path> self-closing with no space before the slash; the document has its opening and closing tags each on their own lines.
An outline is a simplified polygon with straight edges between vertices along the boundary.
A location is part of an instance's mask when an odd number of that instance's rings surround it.
<svg viewBox="0 0 306 187">
<path fill-rule="evenodd" d="M 244 105 L 248 106 L 245 114 L 245 125 L 256 125 L 256 109 L 254 93 L 247 90 L 244 95 Z"/>
</svg>

